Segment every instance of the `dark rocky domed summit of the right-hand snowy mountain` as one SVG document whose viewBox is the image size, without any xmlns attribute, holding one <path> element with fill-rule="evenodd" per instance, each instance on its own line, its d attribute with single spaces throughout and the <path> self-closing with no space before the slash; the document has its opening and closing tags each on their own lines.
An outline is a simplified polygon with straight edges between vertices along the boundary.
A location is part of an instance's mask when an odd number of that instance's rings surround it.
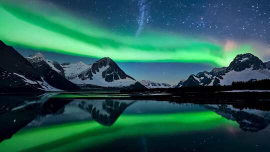
<svg viewBox="0 0 270 152">
<path fill-rule="evenodd" d="M 252 70 L 265 68 L 264 63 L 255 55 L 251 53 L 238 54 L 229 64 L 227 70 L 242 71 L 246 68 Z"/>
</svg>

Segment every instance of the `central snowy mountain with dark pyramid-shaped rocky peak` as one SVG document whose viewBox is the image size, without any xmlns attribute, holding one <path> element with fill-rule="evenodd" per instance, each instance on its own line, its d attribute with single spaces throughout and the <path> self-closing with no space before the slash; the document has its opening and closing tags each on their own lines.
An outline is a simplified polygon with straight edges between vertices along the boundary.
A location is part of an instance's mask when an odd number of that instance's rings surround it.
<svg viewBox="0 0 270 152">
<path fill-rule="evenodd" d="M 75 84 L 90 84 L 103 87 L 125 87 L 137 81 L 127 75 L 112 59 L 104 57 L 91 65 L 83 62 L 63 63 L 65 76 Z"/>
</svg>

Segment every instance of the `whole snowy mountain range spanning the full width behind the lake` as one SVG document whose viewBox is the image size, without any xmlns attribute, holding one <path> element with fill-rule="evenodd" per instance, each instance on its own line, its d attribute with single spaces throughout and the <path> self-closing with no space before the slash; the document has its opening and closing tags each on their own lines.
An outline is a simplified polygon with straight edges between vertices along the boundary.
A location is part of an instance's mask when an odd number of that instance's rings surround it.
<svg viewBox="0 0 270 152">
<path fill-rule="evenodd" d="M 0 41 L 0 92 L 40 92 L 79 89 L 145 89 L 186 86 L 231 85 L 233 81 L 270 79 L 270 61 L 253 54 L 239 54 L 228 67 L 190 75 L 175 86 L 150 80 L 137 81 L 111 58 L 92 64 L 47 60 L 41 53 L 24 58 Z"/>
</svg>

